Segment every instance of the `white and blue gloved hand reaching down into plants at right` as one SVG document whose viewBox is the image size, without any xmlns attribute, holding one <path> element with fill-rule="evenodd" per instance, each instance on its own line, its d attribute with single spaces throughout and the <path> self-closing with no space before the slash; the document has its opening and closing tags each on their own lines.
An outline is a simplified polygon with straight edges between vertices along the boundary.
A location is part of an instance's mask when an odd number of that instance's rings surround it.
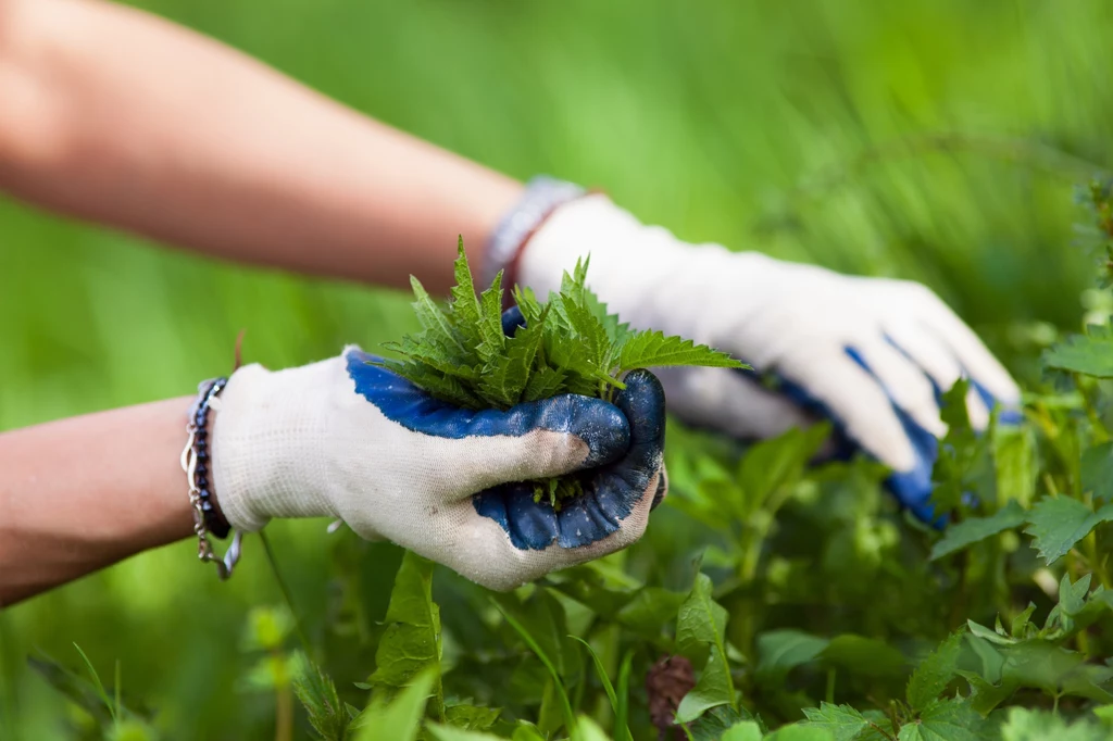
<svg viewBox="0 0 1113 741">
<path fill-rule="evenodd" d="M 1020 401 L 1008 373 L 920 284 L 688 245 L 601 195 L 556 207 L 518 255 L 514 277 L 545 296 L 588 254 L 588 284 L 622 320 L 729 352 L 780 381 L 775 393 L 752 374 L 661 369 L 671 412 L 743 438 L 828 416 L 894 470 L 889 488 L 925 521 L 936 437 L 946 432 L 940 389 L 972 378 L 978 428 L 995 401 Z"/>
</svg>

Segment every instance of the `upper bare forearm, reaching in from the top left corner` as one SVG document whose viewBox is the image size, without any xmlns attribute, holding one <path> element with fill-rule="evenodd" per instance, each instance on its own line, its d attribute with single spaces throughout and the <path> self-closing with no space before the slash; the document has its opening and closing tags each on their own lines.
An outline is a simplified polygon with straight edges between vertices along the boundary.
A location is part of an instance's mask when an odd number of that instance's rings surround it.
<svg viewBox="0 0 1113 741">
<path fill-rule="evenodd" d="M 451 285 L 520 185 L 219 43 L 87 0 L 0 0 L 0 188 L 242 261 Z M 312 42 L 312 41 L 311 41 Z"/>
</svg>

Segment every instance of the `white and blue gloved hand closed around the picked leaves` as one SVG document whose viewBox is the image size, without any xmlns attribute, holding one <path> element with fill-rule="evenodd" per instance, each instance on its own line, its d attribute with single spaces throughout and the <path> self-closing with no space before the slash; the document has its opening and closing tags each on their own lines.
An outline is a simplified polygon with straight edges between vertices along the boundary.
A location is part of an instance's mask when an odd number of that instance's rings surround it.
<svg viewBox="0 0 1113 741">
<path fill-rule="evenodd" d="M 564 395 L 508 412 L 440 402 L 358 348 L 240 368 L 214 402 L 217 501 L 236 528 L 329 516 L 508 590 L 637 541 L 666 493 L 664 397 L 648 373 L 614 404 Z M 583 472 L 556 513 L 514 482 Z"/>
</svg>

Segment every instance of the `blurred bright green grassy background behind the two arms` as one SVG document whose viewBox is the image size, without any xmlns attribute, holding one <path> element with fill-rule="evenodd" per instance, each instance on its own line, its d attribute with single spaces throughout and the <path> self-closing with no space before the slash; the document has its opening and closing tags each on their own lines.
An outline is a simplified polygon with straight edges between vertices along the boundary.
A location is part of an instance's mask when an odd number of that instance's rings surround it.
<svg viewBox="0 0 1113 741">
<path fill-rule="evenodd" d="M 924 280 L 1022 377 L 1018 327 L 1075 326 L 1091 281 L 1071 187 L 1113 165 L 1107 2 L 144 7 L 491 167 L 605 188 L 683 238 Z M 188 394 L 229 367 L 240 328 L 248 360 L 280 367 L 410 326 L 400 294 L 218 265 L 0 199 L 0 429 Z M 324 523 L 269 531 L 312 631 Z M 77 642 L 102 675 L 120 661 L 171 738 L 272 738 L 272 698 L 239 686 L 247 611 L 279 600 L 259 544 L 226 584 L 194 549 L 0 612 L 0 737 L 68 738 L 66 703 L 26 655 L 77 665 Z M 388 584 L 396 554 L 367 557 Z"/>
</svg>

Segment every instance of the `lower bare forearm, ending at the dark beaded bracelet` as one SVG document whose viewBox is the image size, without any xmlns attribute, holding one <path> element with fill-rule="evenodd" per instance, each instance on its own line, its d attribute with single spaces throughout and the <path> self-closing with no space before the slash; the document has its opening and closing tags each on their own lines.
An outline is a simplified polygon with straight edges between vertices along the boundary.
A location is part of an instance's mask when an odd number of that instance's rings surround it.
<svg viewBox="0 0 1113 741">
<path fill-rule="evenodd" d="M 193 532 L 190 401 L 0 434 L 0 606 Z"/>
</svg>

